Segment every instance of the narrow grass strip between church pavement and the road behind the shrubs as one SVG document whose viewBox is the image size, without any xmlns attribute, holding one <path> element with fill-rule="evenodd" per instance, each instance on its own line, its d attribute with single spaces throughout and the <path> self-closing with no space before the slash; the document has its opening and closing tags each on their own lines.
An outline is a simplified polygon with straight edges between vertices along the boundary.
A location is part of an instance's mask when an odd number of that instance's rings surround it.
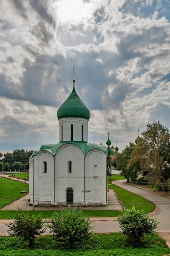
<svg viewBox="0 0 170 256">
<path fill-rule="evenodd" d="M 28 213 L 30 211 L 23 211 L 25 213 Z M 60 212 L 59 210 L 54 211 L 46 211 L 46 210 L 42 210 L 42 211 L 34 211 L 34 215 L 37 216 L 39 214 L 39 212 L 42 213 L 42 217 L 43 218 L 51 218 L 51 215 L 54 212 Z M 122 211 L 116 211 L 116 210 L 83 210 L 83 212 L 85 212 L 85 214 L 88 217 L 117 217 L 119 215 L 122 214 Z M 17 211 L 11 211 L 11 210 L 7 210 L 7 211 L 0 211 L 0 219 L 14 219 L 15 215 L 17 214 Z"/>
</svg>

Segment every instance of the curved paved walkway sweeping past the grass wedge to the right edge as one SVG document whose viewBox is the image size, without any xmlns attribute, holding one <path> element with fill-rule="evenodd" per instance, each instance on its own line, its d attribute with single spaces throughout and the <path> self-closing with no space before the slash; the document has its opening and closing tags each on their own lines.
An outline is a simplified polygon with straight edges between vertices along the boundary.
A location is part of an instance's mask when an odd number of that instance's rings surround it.
<svg viewBox="0 0 170 256">
<path fill-rule="evenodd" d="M 170 199 L 167 199 L 160 195 L 156 195 L 143 189 L 138 189 L 135 186 L 128 185 L 127 183 L 125 183 L 125 180 L 116 180 L 112 183 L 153 202 L 156 207 L 160 209 L 159 211 L 154 211 L 155 213 L 157 213 L 154 215 L 153 212 L 152 215 L 152 217 L 156 217 L 157 221 L 161 221 L 158 225 L 159 230 L 161 232 L 170 232 Z"/>
</svg>

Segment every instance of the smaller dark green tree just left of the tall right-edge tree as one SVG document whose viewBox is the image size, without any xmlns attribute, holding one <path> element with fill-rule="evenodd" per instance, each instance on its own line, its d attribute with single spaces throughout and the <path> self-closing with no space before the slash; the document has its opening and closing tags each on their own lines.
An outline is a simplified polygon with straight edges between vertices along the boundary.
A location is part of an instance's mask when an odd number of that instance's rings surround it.
<svg viewBox="0 0 170 256">
<path fill-rule="evenodd" d="M 130 168 L 127 168 L 132 151 L 135 147 L 135 144 L 130 142 L 129 146 L 126 145 L 122 153 L 117 154 L 116 157 L 117 169 L 122 171 L 122 175 L 127 179 L 127 182 L 129 182 L 129 180 L 136 180 L 138 172 L 141 170 L 139 161 L 131 165 Z"/>
</svg>

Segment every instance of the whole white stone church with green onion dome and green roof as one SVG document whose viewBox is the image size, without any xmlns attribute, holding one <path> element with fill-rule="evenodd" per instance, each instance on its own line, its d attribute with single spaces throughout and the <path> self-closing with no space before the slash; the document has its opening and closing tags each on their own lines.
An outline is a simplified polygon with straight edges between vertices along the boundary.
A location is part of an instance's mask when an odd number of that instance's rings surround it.
<svg viewBox="0 0 170 256">
<path fill-rule="evenodd" d="M 30 204 L 107 205 L 108 150 L 88 143 L 90 116 L 73 85 L 57 111 L 59 143 L 42 145 L 29 158 Z"/>
</svg>

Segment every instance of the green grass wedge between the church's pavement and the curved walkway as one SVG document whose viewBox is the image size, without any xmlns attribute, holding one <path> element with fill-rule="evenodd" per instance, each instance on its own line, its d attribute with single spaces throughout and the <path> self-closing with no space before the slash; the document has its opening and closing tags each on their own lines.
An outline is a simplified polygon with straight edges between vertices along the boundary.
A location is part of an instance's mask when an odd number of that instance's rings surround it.
<svg viewBox="0 0 170 256">
<path fill-rule="evenodd" d="M 151 201 L 143 198 L 140 195 L 136 195 L 126 189 L 122 189 L 116 185 L 108 185 L 108 189 L 113 189 L 119 198 L 122 200 L 122 203 L 127 209 L 135 207 L 136 209 L 144 210 L 145 213 L 152 212 L 155 209 L 155 204 Z"/>
</svg>

